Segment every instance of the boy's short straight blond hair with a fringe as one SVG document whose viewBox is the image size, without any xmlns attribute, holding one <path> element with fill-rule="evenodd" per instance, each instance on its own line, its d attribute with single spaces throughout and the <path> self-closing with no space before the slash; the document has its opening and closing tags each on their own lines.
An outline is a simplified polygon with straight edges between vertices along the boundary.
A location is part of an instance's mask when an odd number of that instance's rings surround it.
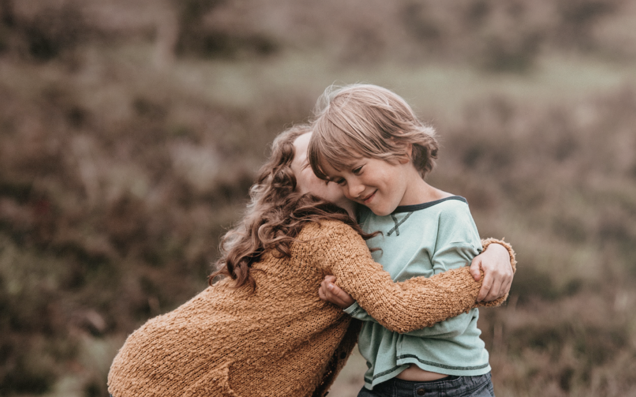
<svg viewBox="0 0 636 397">
<path fill-rule="evenodd" d="M 314 173 L 328 179 L 324 165 L 336 170 L 358 158 L 393 163 L 410 159 L 422 178 L 437 158 L 435 130 L 424 125 L 396 93 L 373 84 L 329 86 L 319 98 L 307 156 Z"/>
</svg>

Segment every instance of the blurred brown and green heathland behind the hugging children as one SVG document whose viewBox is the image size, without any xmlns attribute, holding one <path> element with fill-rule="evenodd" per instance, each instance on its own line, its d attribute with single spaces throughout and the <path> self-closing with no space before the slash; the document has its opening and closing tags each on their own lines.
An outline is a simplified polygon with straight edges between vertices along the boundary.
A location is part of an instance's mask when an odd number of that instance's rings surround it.
<svg viewBox="0 0 636 397">
<path fill-rule="evenodd" d="M 205 288 L 268 144 L 331 83 L 402 95 L 520 262 L 497 396 L 636 395 L 636 1 L 0 0 L 0 395 L 107 396 Z M 355 396 L 354 355 L 330 396 Z"/>
</svg>

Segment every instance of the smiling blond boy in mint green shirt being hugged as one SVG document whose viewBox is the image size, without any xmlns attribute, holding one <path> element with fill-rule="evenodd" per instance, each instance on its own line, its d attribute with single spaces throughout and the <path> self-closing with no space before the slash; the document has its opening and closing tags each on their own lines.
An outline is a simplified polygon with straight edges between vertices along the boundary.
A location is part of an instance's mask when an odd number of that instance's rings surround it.
<svg viewBox="0 0 636 397">
<path fill-rule="evenodd" d="M 366 243 L 380 248 L 371 255 L 394 281 L 463 267 L 481 252 L 466 199 L 425 182 L 438 143 L 403 98 L 370 84 L 328 89 L 312 129 L 308 158 L 315 175 L 359 204 L 364 232 L 382 232 Z M 488 295 L 507 290 L 512 271 Z M 478 309 L 413 332 L 391 332 L 335 282 L 324 279 L 321 298 L 363 321 L 358 346 L 368 370 L 359 397 L 494 396 Z"/>
</svg>

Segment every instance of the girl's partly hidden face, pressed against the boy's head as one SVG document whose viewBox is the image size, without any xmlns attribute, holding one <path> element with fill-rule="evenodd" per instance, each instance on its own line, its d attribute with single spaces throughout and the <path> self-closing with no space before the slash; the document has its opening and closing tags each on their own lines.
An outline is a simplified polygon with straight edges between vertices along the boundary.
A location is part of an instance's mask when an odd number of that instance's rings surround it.
<svg viewBox="0 0 636 397">
<path fill-rule="evenodd" d="M 291 169 L 296 176 L 296 189 L 305 194 L 311 193 L 337 206 L 344 208 L 349 213 L 353 212 L 353 203 L 345 198 L 343 190 L 333 182 L 326 182 L 315 176 L 307 160 L 307 147 L 311 133 L 305 133 L 294 140 L 296 154 L 291 162 Z"/>
</svg>

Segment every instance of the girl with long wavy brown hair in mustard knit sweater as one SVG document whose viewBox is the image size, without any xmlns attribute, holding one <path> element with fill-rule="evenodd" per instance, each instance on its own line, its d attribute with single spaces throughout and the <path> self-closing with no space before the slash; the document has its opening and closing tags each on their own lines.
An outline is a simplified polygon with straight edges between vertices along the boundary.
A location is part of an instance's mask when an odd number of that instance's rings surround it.
<svg viewBox="0 0 636 397">
<path fill-rule="evenodd" d="M 294 163 L 294 142 L 308 131 L 294 127 L 274 141 L 244 219 L 222 240 L 221 268 L 210 281 L 227 277 L 128 337 L 108 376 L 114 397 L 324 396 L 359 330 L 319 299 L 327 274 L 398 332 L 478 306 L 480 283 L 467 267 L 391 281 L 371 260 L 368 235 L 322 199 L 346 206 L 338 188 L 314 184 L 308 165 Z M 503 262 L 509 266 L 508 257 Z"/>
</svg>

